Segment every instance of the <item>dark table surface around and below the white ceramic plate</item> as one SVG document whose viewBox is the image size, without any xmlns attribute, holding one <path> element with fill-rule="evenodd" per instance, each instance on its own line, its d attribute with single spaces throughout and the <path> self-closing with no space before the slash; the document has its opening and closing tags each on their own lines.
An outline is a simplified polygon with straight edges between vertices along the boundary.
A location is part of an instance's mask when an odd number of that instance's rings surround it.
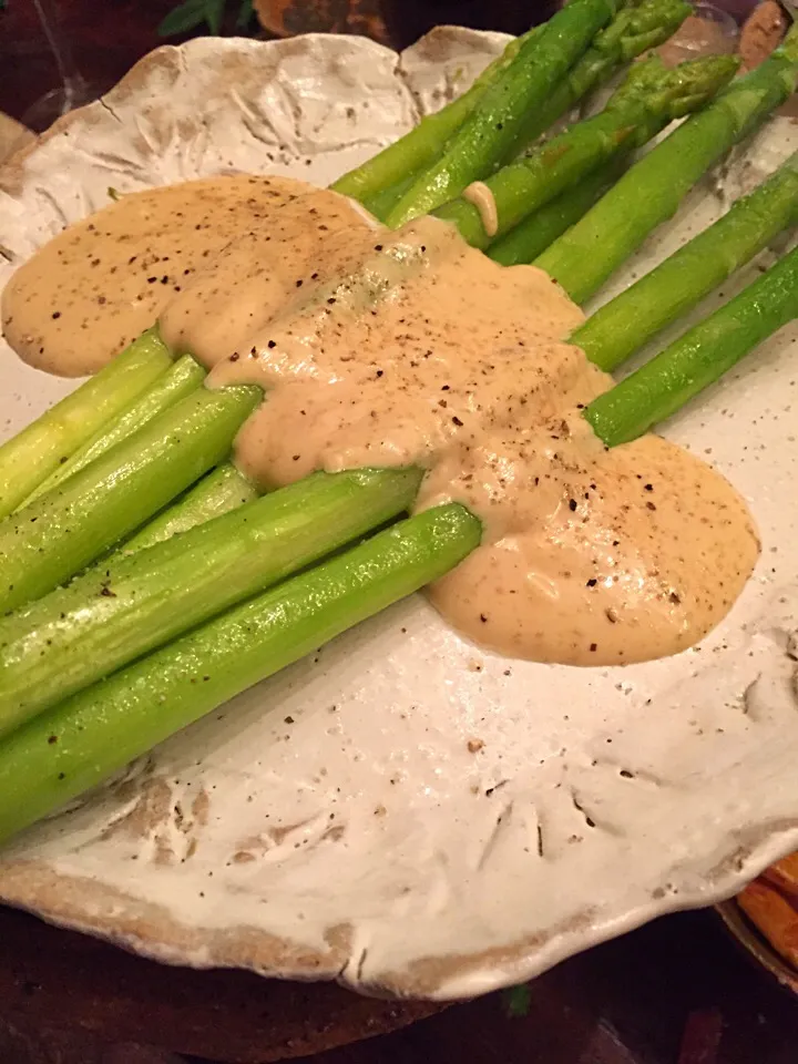
<svg viewBox="0 0 798 1064">
<path fill-rule="evenodd" d="M 171 7 L 61 0 L 82 73 L 100 89 L 113 84 L 160 43 L 155 27 Z M 501 19 L 518 6 L 494 10 Z M 20 116 L 55 81 L 31 0 L 8 0 L 0 110 Z M 168 969 L 0 910 L 0 1064 L 176 1064 L 191 1054 L 305 1054 L 314 1064 L 798 1064 L 798 1004 L 753 969 L 712 913 L 672 917 L 569 961 L 532 984 L 525 1015 L 510 1016 L 507 998 L 494 994 L 308 1055 L 428 1011 L 335 986 Z"/>
</svg>

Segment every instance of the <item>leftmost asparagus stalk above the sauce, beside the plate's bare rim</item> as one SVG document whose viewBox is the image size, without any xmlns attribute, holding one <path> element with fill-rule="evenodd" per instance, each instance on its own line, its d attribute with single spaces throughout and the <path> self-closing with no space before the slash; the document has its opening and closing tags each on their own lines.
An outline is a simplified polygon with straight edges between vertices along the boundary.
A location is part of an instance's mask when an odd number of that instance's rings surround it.
<svg viewBox="0 0 798 1064">
<path fill-rule="evenodd" d="M 510 41 L 501 55 L 482 71 L 467 92 L 434 114 L 422 117 L 409 133 L 383 147 L 356 170 L 334 181 L 330 188 L 368 206 L 367 201 L 371 197 L 398 183 L 406 183 L 410 176 L 417 177 L 426 166 L 438 158 L 449 139 L 480 105 L 485 91 L 508 70 L 523 45 L 532 40 L 536 32 L 538 27 L 534 27 L 523 37 Z"/>
</svg>

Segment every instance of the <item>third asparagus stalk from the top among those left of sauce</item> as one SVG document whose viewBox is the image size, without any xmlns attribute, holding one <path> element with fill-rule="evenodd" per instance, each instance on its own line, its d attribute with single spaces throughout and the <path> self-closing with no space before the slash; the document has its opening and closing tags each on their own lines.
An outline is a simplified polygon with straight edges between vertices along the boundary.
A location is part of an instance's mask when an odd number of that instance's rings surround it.
<svg viewBox="0 0 798 1064">
<path fill-rule="evenodd" d="M 45 594 L 157 513 L 229 452 L 255 387 L 198 388 L 0 523 L 0 610 Z"/>
</svg>

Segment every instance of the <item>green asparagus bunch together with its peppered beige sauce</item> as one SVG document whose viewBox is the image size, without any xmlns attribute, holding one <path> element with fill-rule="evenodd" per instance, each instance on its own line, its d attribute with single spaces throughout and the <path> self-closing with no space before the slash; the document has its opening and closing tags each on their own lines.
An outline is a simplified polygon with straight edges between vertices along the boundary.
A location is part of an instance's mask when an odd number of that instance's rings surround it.
<svg viewBox="0 0 798 1064">
<path fill-rule="evenodd" d="M 542 144 L 526 120 L 674 11 L 573 0 L 330 190 L 123 196 L 18 270 L 10 342 L 99 371 L 0 448 L 0 837 L 427 585 L 477 642 L 570 665 L 677 653 L 728 612 L 754 520 L 649 429 L 798 314 L 798 253 L 608 370 L 795 222 L 795 160 L 594 318 L 580 304 L 794 91 L 798 38 L 729 84 L 729 58 L 644 61 Z"/>
</svg>

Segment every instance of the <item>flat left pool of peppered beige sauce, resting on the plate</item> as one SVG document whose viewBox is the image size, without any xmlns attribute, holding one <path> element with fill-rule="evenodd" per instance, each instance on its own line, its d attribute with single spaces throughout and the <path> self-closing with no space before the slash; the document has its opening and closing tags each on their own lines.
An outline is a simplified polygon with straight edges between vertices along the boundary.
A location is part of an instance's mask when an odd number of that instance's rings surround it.
<svg viewBox="0 0 798 1064">
<path fill-rule="evenodd" d="M 95 372 L 223 247 L 262 232 L 275 207 L 308 187 L 231 176 L 122 196 L 17 270 L 2 294 L 3 335 L 30 366 L 61 377 Z"/>
</svg>

